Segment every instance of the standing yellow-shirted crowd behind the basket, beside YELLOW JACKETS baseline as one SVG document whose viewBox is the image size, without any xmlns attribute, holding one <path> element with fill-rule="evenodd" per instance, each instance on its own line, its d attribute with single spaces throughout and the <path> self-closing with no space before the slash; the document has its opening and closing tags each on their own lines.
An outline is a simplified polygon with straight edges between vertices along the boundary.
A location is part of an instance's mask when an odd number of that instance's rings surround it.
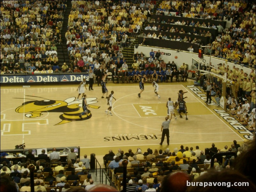
<svg viewBox="0 0 256 192">
<path fill-rule="evenodd" d="M 225 63 L 220 63 L 217 68 L 210 63 L 209 66 L 205 64 L 200 65 L 200 70 L 209 71 L 207 75 L 200 74 L 194 81 L 195 86 L 200 86 L 203 90 L 207 90 L 207 83 L 211 85 L 211 97 L 215 98 L 216 104 L 220 105 L 221 97 L 225 98 L 226 109 L 232 115 L 242 122 L 243 125 L 248 126 L 248 129 L 255 132 L 255 71 L 252 69 L 250 74 L 244 72 L 243 69 L 236 68 L 234 65 L 232 69 Z M 216 74 L 216 75 L 215 75 Z M 227 76 L 226 93 L 222 95 L 222 81 L 217 75 Z"/>
</svg>

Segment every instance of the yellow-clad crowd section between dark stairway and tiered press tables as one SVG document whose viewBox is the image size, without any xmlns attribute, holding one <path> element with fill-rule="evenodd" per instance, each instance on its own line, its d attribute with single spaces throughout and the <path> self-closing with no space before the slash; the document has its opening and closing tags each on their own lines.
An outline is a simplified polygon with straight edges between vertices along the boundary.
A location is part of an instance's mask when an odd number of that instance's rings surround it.
<svg viewBox="0 0 256 192">
<path fill-rule="evenodd" d="M 115 64 L 120 69 L 125 58 L 119 48 L 130 46 L 130 37 L 139 34 L 150 11 L 154 10 L 153 3 L 72 1 L 65 33 L 71 61 L 69 67 L 87 72 L 90 66 L 96 76 L 99 67 L 94 66 L 98 63 L 103 70 Z"/>
</svg>

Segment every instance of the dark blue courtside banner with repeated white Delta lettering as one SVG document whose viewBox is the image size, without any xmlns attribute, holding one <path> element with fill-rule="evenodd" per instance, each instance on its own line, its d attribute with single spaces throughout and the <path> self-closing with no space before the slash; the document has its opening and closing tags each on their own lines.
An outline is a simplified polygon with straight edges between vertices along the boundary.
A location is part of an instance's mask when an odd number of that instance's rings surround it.
<svg viewBox="0 0 256 192">
<path fill-rule="evenodd" d="M 29 74 L 29 75 L 1 75 L 1 84 L 7 83 L 62 83 L 62 82 L 79 82 L 84 78 L 89 81 L 87 74 Z"/>
</svg>

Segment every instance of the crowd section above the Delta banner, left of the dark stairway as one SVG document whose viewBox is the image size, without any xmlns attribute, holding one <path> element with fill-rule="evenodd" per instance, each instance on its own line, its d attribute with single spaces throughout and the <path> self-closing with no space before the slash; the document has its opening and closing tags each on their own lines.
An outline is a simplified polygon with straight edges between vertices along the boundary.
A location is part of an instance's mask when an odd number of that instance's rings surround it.
<svg viewBox="0 0 256 192">
<path fill-rule="evenodd" d="M 65 3 L 1 1 L 1 74 L 46 73 L 58 65 Z"/>
</svg>

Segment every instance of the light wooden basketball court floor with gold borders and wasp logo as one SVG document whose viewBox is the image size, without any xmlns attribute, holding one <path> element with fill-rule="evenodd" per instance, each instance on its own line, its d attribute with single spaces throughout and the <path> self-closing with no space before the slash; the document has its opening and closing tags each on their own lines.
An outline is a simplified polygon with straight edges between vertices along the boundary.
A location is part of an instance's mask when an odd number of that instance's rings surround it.
<svg viewBox="0 0 256 192">
<path fill-rule="evenodd" d="M 145 84 L 145 91 L 138 98 L 139 84 L 108 83 L 107 89 L 114 91 L 112 114 L 105 114 L 107 100 L 102 99 L 100 86 L 86 90 L 87 104 L 90 105 L 88 117 L 79 118 L 82 100 L 76 85 L 33 85 L 1 87 L 1 150 L 14 149 L 17 144 L 26 144 L 26 149 L 80 146 L 81 155 L 95 153 L 102 156 L 118 148 L 136 151 L 141 147 L 146 151 L 153 149 L 179 148 L 180 144 L 189 147 L 200 146 L 201 150 L 215 143 L 217 148 L 243 141 L 243 136 L 225 122 L 215 110 L 217 105 L 206 105 L 187 88 L 192 81 L 184 83 L 160 83 L 159 95 L 154 94 L 152 84 Z M 166 139 L 162 146 L 161 124 L 167 116 L 166 102 L 170 97 L 174 102 L 182 89 L 188 120 L 174 116 L 170 123 L 170 145 Z M 80 98 L 81 99 L 81 96 Z M 79 105 L 80 104 L 80 105 Z M 102 158 L 100 158 L 101 160 Z"/>
</svg>

